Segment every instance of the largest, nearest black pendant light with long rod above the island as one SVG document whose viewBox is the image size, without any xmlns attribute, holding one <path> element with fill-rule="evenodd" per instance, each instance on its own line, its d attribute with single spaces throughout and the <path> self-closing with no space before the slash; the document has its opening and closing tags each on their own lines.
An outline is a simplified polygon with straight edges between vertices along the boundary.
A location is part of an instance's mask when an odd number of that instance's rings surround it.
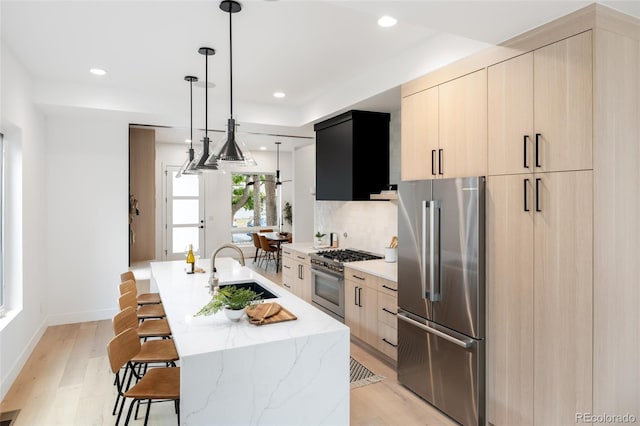
<svg viewBox="0 0 640 426">
<path fill-rule="evenodd" d="M 255 166 L 257 163 L 246 148 L 245 144 L 236 136 L 236 122 L 233 118 L 233 38 L 231 27 L 231 16 L 240 12 L 242 6 L 234 0 L 223 0 L 220 2 L 220 9 L 229 14 L 229 93 L 230 93 L 230 114 L 227 121 L 227 135 L 221 141 L 222 148 L 216 153 L 212 153 L 205 164 L 220 165 L 233 164 L 237 166 Z"/>
</svg>

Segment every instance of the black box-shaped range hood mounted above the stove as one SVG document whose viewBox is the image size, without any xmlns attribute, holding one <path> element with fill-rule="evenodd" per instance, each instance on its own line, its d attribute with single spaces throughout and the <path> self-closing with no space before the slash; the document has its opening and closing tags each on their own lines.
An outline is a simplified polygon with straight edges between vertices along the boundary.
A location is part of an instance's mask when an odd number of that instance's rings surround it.
<svg viewBox="0 0 640 426">
<path fill-rule="evenodd" d="M 364 201 L 389 184 L 389 113 L 349 111 L 316 131 L 316 200 Z"/>
</svg>

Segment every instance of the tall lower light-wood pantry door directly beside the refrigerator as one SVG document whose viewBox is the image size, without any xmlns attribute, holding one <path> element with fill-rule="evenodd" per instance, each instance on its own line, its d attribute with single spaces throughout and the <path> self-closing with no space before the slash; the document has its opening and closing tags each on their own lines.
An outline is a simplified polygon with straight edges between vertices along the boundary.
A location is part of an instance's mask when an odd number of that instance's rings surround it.
<svg viewBox="0 0 640 426">
<path fill-rule="evenodd" d="M 487 178 L 487 418 L 495 426 L 533 424 L 533 182 Z"/>
</svg>

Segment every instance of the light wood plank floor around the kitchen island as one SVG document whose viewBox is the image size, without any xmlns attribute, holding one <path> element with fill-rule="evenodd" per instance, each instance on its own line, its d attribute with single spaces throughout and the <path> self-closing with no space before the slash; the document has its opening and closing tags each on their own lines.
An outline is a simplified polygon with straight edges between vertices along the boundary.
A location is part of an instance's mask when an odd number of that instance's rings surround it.
<svg viewBox="0 0 640 426">
<path fill-rule="evenodd" d="M 250 261 L 247 266 L 253 267 Z M 279 274 L 270 271 L 260 272 L 280 282 Z M 144 286 L 144 271 L 138 275 Z M 0 412 L 19 409 L 15 426 L 114 424 L 111 409 L 116 392 L 106 355 L 112 337 L 109 320 L 49 327 L 0 404 Z M 352 343 L 351 356 L 385 377 L 351 390 L 351 425 L 455 424 L 398 384 L 395 369 L 373 352 Z M 131 424 L 143 424 L 143 418 Z M 149 424 L 175 425 L 172 404 L 154 404 Z"/>
</svg>

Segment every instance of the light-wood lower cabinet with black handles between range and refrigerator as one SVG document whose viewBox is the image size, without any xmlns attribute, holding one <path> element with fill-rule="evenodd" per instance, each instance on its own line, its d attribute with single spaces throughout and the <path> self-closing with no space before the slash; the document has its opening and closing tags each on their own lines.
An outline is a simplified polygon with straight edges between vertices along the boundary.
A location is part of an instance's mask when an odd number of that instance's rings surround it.
<svg viewBox="0 0 640 426">
<path fill-rule="evenodd" d="M 345 324 L 351 334 L 397 360 L 397 284 L 345 268 Z"/>
</svg>

